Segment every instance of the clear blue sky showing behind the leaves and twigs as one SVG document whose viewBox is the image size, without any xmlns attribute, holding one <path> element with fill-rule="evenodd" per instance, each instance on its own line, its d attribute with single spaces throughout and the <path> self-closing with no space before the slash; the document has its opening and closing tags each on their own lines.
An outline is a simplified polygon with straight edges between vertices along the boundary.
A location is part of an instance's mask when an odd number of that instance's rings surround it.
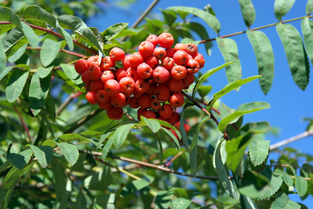
<svg viewBox="0 0 313 209">
<path fill-rule="evenodd" d="M 114 1 L 109 1 L 113 4 Z M 150 5 L 152 1 L 136 1 L 134 5 L 125 10 L 121 8 L 111 8 L 106 10 L 105 15 L 99 15 L 87 22 L 88 26 L 95 26 L 100 31 L 106 29 L 106 27 L 116 24 L 118 22 L 129 22 L 129 26 L 133 24 L 136 19 L 141 15 L 141 13 Z M 246 25 L 241 17 L 241 11 L 238 1 L 159 1 L 157 6 L 152 10 L 154 18 L 162 18 L 161 12 L 158 8 L 166 9 L 169 6 L 193 6 L 196 8 L 204 8 L 204 6 L 210 3 L 212 8 L 216 13 L 216 17 L 220 21 L 221 30 L 220 36 L 225 36 L 229 33 L 234 33 L 238 31 L 245 31 Z M 256 19 L 252 24 L 251 28 L 264 26 L 266 24 L 271 24 L 278 22 L 275 19 L 273 12 L 274 1 L 252 1 L 256 10 Z M 298 0 L 294 4 L 293 8 L 289 11 L 287 15 L 283 17 L 283 20 L 294 19 L 296 17 L 305 16 L 305 5 L 307 1 Z M 198 22 L 206 25 L 203 20 L 199 18 Z M 292 22 L 296 29 L 302 34 L 300 29 L 300 20 Z M 211 38 L 216 37 L 216 33 L 206 26 Z M 274 144 L 283 139 L 293 137 L 305 131 L 307 127 L 307 122 L 303 122 L 303 117 L 313 118 L 313 84 L 309 83 L 305 91 L 300 90 L 298 86 L 294 83 L 291 77 L 291 72 L 289 70 L 289 65 L 287 63 L 286 56 L 284 54 L 284 49 L 278 33 L 276 32 L 275 26 L 262 30 L 266 33 L 269 40 L 271 41 L 273 52 L 275 56 L 275 75 L 273 80 L 273 85 L 271 91 L 268 95 L 264 95 L 259 88 L 259 82 L 254 81 L 245 86 L 242 86 L 239 92 L 233 91 L 223 97 L 223 103 L 227 106 L 236 109 L 240 104 L 246 102 L 264 101 L 271 104 L 271 109 L 266 109 L 259 111 L 257 113 L 245 116 L 244 123 L 252 121 L 268 121 L 271 123 L 272 127 L 279 127 L 280 133 L 278 136 L 273 134 L 268 134 L 266 136 L 267 140 L 271 140 L 271 144 Z M 257 63 L 255 60 L 255 55 L 250 45 L 250 42 L 246 34 L 241 34 L 239 36 L 232 37 L 238 45 L 239 49 L 239 59 L 241 60 L 242 67 L 242 77 L 250 77 L 252 75 L 257 75 Z M 206 60 L 205 67 L 203 71 L 214 68 L 218 65 L 224 63 L 223 56 L 220 54 L 216 42 L 213 42 L 211 56 L 207 56 L 204 51 L 204 47 L 199 47 L 200 52 L 204 54 L 204 59 Z M 312 78 L 312 63 L 310 63 Z M 209 84 L 213 86 L 212 93 L 219 91 L 227 84 L 227 79 L 225 77 L 225 71 L 220 70 L 210 77 Z M 300 141 L 296 141 L 290 144 L 293 148 L 298 149 L 303 153 L 312 153 L 312 137 L 307 137 Z M 273 157 L 275 157 L 273 155 Z M 300 199 L 291 196 L 295 201 L 300 201 Z M 312 196 L 310 196 L 305 202 L 307 206 L 313 205 Z"/>
</svg>

